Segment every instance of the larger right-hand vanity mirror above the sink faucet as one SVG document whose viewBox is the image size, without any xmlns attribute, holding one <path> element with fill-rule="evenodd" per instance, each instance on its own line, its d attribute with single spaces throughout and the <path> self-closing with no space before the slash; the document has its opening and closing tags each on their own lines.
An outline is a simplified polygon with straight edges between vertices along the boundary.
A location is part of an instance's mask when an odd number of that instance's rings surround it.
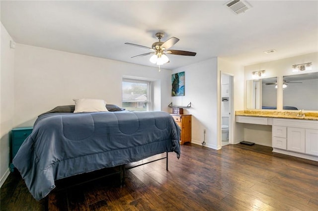
<svg viewBox="0 0 318 211">
<path fill-rule="evenodd" d="M 287 75 L 283 91 L 283 106 L 294 109 L 318 110 L 318 72 Z"/>
</svg>

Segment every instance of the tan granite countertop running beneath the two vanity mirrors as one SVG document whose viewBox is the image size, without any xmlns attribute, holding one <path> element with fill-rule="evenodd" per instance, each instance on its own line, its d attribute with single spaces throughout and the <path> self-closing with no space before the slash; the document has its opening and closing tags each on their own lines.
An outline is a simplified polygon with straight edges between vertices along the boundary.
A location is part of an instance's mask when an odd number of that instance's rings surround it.
<svg viewBox="0 0 318 211">
<path fill-rule="evenodd" d="M 236 116 L 260 116 L 260 117 L 272 117 L 272 118 L 286 118 L 286 119 L 305 119 L 305 120 L 317 120 L 318 112 L 304 112 L 305 117 L 297 116 L 298 111 L 264 111 L 264 110 L 237 110 Z"/>
</svg>

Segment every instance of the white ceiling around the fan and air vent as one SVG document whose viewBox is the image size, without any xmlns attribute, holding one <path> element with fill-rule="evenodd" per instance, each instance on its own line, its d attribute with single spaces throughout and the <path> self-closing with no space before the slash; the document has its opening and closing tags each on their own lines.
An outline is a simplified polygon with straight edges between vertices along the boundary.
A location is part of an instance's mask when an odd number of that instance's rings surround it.
<svg viewBox="0 0 318 211">
<path fill-rule="evenodd" d="M 171 49 L 196 56 L 170 55 L 161 66 L 175 69 L 212 57 L 242 65 L 318 52 L 318 0 L 248 0 L 236 14 L 215 1 L 3 1 L 1 23 L 16 43 L 156 66 L 147 49 L 155 34 L 177 37 Z M 275 49 L 275 53 L 264 51 Z"/>
</svg>

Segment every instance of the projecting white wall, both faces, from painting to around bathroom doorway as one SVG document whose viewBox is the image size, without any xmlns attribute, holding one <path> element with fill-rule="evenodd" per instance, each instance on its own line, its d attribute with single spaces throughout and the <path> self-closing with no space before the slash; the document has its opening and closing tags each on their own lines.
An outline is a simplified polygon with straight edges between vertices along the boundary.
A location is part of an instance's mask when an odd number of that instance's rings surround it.
<svg viewBox="0 0 318 211">
<path fill-rule="evenodd" d="M 185 96 L 172 97 L 172 104 L 186 106 L 184 113 L 192 114 L 192 142 L 201 145 L 206 129 L 206 146 L 221 149 L 221 71 L 234 76 L 234 109 L 243 109 L 244 68 L 223 58 L 211 58 L 173 70 L 185 73 Z M 235 119 L 235 118 L 234 118 Z M 242 140 L 239 126 L 233 119 L 233 140 Z"/>
</svg>

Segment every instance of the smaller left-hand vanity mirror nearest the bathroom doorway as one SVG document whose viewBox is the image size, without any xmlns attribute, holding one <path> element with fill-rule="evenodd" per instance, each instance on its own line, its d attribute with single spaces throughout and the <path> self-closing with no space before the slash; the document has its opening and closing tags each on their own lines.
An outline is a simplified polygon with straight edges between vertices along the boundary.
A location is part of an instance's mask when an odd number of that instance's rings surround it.
<svg viewBox="0 0 318 211">
<path fill-rule="evenodd" d="M 276 109 L 277 77 L 246 81 L 247 109 Z"/>
</svg>

